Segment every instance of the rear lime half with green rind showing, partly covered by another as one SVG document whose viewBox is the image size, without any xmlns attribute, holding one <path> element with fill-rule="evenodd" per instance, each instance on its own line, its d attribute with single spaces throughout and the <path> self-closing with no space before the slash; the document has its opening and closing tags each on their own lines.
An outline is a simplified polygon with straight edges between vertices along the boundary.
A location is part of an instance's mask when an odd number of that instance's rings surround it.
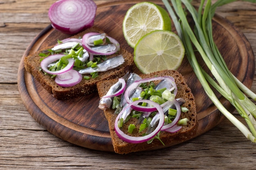
<svg viewBox="0 0 256 170">
<path fill-rule="evenodd" d="M 141 37 L 153 30 L 171 31 L 171 18 L 166 10 L 152 2 L 140 2 L 128 9 L 123 21 L 123 33 L 132 48 Z"/>
</svg>

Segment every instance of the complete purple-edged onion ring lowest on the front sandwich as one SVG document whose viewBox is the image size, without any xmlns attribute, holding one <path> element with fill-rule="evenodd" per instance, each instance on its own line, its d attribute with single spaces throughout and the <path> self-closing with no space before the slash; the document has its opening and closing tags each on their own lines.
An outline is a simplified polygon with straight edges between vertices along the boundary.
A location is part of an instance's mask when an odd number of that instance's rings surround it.
<svg viewBox="0 0 256 170">
<path fill-rule="evenodd" d="M 157 125 L 157 127 L 155 128 L 155 130 L 146 135 L 146 136 L 142 136 L 142 137 L 132 137 L 132 136 L 129 136 L 129 135 L 126 135 L 122 130 L 119 129 L 118 127 L 118 120 L 119 120 L 119 117 L 122 115 L 122 113 L 124 112 L 124 110 L 130 108 L 130 106 L 134 105 L 134 104 L 138 104 L 139 102 L 146 102 L 152 106 L 154 106 L 155 108 L 157 108 L 158 112 L 159 112 L 159 115 L 160 115 L 160 119 L 159 119 L 159 124 Z M 123 141 L 126 141 L 128 143 L 132 143 L 132 144 L 137 144 L 137 143 L 141 143 L 141 142 L 144 142 L 144 141 L 148 141 L 150 139 L 152 139 L 153 137 L 155 137 L 155 135 L 157 135 L 157 133 L 161 130 L 162 126 L 164 124 L 164 112 L 161 108 L 161 106 L 153 101 L 150 101 L 150 100 L 137 100 L 135 102 L 132 102 L 130 104 L 128 104 L 128 106 L 126 106 L 120 113 L 119 115 L 117 116 L 117 119 L 115 120 L 115 132 L 117 134 L 117 136 L 122 139 Z"/>
</svg>

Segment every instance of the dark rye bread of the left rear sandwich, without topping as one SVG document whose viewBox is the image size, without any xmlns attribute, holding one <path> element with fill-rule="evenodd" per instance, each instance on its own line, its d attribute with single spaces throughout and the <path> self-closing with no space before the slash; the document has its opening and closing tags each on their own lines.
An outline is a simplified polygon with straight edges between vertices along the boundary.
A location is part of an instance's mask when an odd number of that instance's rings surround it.
<svg viewBox="0 0 256 170">
<path fill-rule="evenodd" d="M 102 30 L 98 29 L 97 27 L 92 27 L 90 29 L 87 29 L 77 35 L 74 35 L 70 38 L 79 38 L 82 37 L 85 33 L 88 32 L 99 32 L 103 33 Z M 133 62 L 133 55 L 126 51 L 125 49 L 120 49 L 117 53 L 107 56 L 108 58 L 117 56 L 122 54 L 125 60 L 125 63 L 121 66 L 114 68 L 110 71 L 99 73 L 99 76 L 90 79 L 85 80 L 82 79 L 82 81 L 72 87 L 61 87 L 58 86 L 54 82 L 54 79 L 52 79 L 49 75 L 45 75 L 43 71 L 40 71 L 40 56 L 39 54 L 47 49 L 51 49 L 53 46 L 49 46 L 45 49 L 42 49 L 32 55 L 29 55 L 25 57 L 24 65 L 26 71 L 31 73 L 35 79 L 37 79 L 40 84 L 49 92 L 52 94 L 53 97 L 64 100 L 64 99 L 72 99 L 74 97 L 79 97 L 83 95 L 90 94 L 94 91 L 97 91 L 96 83 L 101 80 L 107 80 L 107 79 L 113 79 L 116 77 L 122 77 L 125 73 L 132 70 L 132 67 L 134 66 Z"/>
</svg>

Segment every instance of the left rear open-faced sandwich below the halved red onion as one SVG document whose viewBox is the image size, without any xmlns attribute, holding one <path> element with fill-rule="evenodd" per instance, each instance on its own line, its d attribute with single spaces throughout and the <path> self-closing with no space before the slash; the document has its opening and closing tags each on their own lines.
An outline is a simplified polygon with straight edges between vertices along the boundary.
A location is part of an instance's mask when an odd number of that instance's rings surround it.
<svg viewBox="0 0 256 170">
<path fill-rule="evenodd" d="M 96 83 L 122 77 L 133 56 L 97 27 L 25 57 L 25 69 L 57 99 L 71 99 L 97 90 Z"/>
</svg>

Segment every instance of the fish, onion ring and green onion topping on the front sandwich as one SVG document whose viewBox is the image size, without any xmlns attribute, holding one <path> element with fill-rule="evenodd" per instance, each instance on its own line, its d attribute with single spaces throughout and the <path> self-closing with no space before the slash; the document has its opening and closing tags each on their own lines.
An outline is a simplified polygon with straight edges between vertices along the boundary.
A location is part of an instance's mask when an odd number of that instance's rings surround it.
<svg viewBox="0 0 256 170">
<path fill-rule="evenodd" d="M 174 133 L 186 125 L 189 119 L 180 116 L 188 110 L 182 107 L 184 99 L 175 98 L 177 85 L 173 77 L 141 79 L 135 73 L 127 74 L 110 87 L 99 103 L 102 110 L 111 106 L 116 109 L 115 132 L 120 139 L 133 144 L 150 143 L 159 139 L 161 131 Z M 124 81 L 126 85 L 121 86 Z"/>
</svg>

